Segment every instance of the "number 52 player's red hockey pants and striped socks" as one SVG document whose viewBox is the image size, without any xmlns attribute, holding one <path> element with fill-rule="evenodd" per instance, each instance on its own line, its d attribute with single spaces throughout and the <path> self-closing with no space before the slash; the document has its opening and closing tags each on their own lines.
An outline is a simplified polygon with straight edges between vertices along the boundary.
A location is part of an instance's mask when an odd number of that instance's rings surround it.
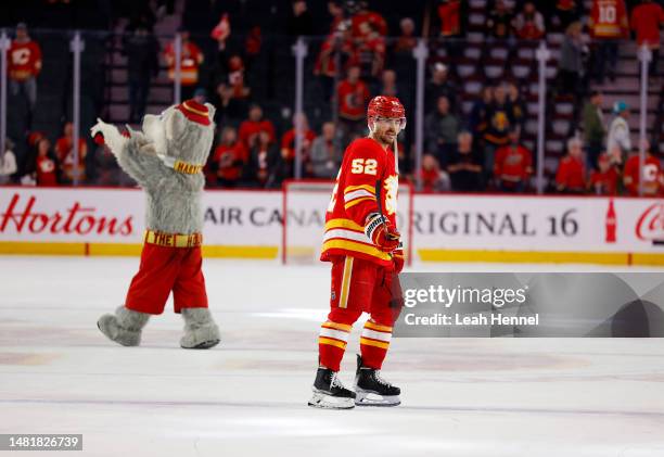
<svg viewBox="0 0 664 457">
<path fill-rule="evenodd" d="M 340 370 L 353 323 L 362 312 L 371 318 L 360 337 L 362 363 L 380 369 L 387 355 L 392 326 L 401 312 L 399 278 L 394 268 L 354 257 L 339 257 L 332 263 L 332 297 L 328 320 L 320 328 L 320 365 Z"/>
</svg>

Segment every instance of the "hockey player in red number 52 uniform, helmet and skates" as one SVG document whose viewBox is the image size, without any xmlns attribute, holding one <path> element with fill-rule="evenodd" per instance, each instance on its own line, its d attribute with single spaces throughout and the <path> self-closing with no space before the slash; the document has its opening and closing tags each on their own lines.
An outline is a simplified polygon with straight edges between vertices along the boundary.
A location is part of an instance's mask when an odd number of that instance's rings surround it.
<svg viewBox="0 0 664 457">
<path fill-rule="evenodd" d="M 328 320 L 319 337 L 319 368 L 309 406 L 347 409 L 396 406 L 399 388 L 381 378 L 392 326 L 401 307 L 398 272 L 404 266 L 396 229 L 397 135 L 406 126 L 395 97 L 375 97 L 367 113 L 370 135 L 355 140 L 344 160 L 325 216 L 321 261 L 332 263 Z M 360 338 L 355 392 L 337 379 L 353 323 L 371 315 Z"/>
</svg>

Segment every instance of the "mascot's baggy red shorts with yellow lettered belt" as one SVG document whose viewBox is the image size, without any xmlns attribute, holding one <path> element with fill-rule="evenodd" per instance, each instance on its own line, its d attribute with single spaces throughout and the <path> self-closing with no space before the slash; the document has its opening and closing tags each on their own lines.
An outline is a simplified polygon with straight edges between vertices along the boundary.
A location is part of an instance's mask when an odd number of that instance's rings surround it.
<svg viewBox="0 0 664 457">
<path fill-rule="evenodd" d="M 176 313 L 182 308 L 206 308 L 201 242 L 200 233 L 145 232 L 141 265 L 129 285 L 125 306 L 140 313 L 162 314 L 173 291 Z"/>
</svg>

